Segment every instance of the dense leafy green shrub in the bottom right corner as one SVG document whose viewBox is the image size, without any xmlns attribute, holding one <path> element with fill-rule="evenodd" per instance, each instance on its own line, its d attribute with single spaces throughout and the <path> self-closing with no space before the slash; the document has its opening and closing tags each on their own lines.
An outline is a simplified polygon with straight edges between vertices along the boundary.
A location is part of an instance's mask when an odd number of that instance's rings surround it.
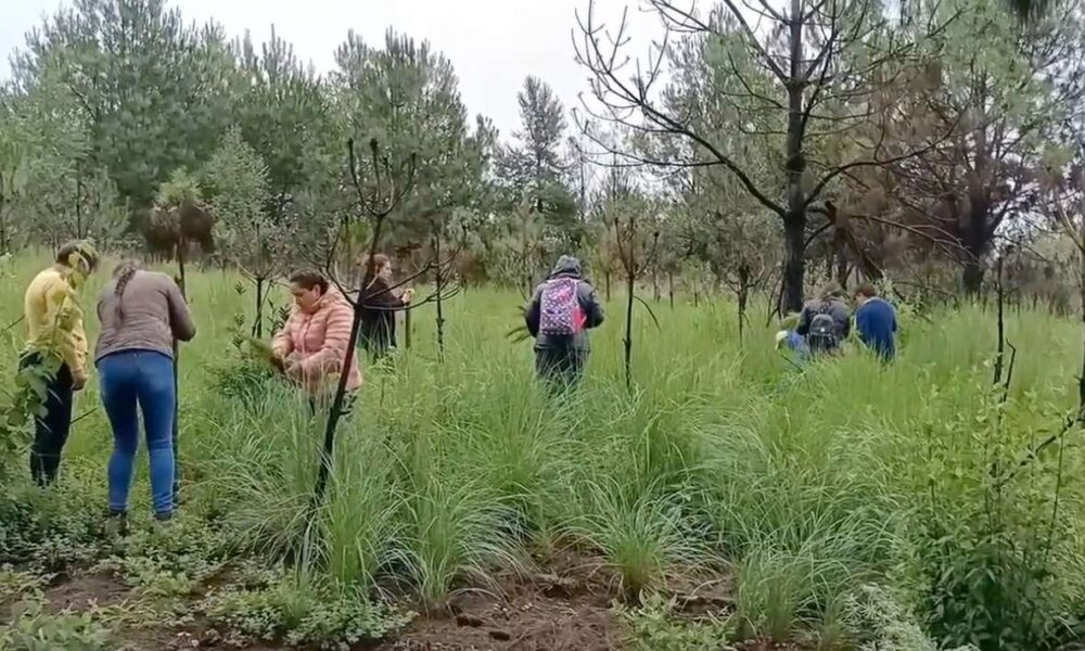
<svg viewBox="0 0 1085 651">
<path fill-rule="evenodd" d="M 1036 425 L 1026 423 L 1058 423 L 1058 412 L 1032 391 L 1020 399 L 1001 391 L 980 393 L 971 412 L 927 421 L 915 456 L 927 499 L 907 536 L 931 631 L 981 650 L 1039 648 L 1062 635 L 1058 621 L 1037 613 L 1063 599 L 1052 552 L 1076 524 L 1059 508 L 1065 450 L 1022 459 L 1036 445 Z M 968 506 L 952 513 L 949 505 Z"/>
</svg>

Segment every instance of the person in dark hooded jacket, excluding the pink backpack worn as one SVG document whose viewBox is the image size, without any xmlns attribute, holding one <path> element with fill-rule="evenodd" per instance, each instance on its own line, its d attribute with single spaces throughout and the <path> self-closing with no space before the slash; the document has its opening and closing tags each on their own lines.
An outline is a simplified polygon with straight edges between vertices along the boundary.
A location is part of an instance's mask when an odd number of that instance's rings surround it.
<svg viewBox="0 0 1085 651">
<path fill-rule="evenodd" d="M 571 334 L 545 332 L 545 295 L 565 279 L 575 281 L 579 322 L 574 326 Z M 595 288 L 584 279 L 580 260 L 569 255 L 558 259 L 550 278 L 535 290 L 535 295 L 524 309 L 524 319 L 527 331 L 535 337 L 535 368 L 539 376 L 565 385 L 575 384 L 584 372 L 590 353 L 587 331 L 603 322 L 602 305 Z"/>
</svg>

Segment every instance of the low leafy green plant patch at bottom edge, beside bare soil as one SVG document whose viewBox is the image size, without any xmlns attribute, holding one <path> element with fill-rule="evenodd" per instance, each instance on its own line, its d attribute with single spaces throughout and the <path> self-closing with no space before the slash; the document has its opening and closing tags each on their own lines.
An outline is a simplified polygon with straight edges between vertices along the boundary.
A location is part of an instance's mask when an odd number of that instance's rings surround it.
<svg viewBox="0 0 1085 651">
<path fill-rule="evenodd" d="M 617 616 L 628 627 L 630 651 L 731 651 L 735 626 L 728 617 L 693 618 L 677 611 L 674 599 L 650 595 L 635 609 L 617 605 Z M 903 649 L 899 651 L 904 651 Z"/>
</svg>

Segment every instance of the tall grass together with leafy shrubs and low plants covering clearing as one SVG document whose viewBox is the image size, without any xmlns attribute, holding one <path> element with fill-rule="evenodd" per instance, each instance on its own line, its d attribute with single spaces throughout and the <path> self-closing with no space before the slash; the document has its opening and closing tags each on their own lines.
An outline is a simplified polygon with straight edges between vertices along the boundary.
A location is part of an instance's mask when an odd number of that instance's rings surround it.
<svg viewBox="0 0 1085 651">
<path fill-rule="evenodd" d="M 23 282 L 35 266 L 20 263 Z M 983 651 L 1056 649 L 1083 634 L 1085 502 L 1067 481 L 1081 471 L 1080 437 L 1022 463 L 1075 404 L 1072 321 L 1009 318 L 1019 356 L 1004 399 L 991 386 L 993 315 L 979 308 L 904 323 L 891 367 L 852 355 L 797 373 L 770 331 L 748 331 L 740 344 L 723 302 L 661 307 L 662 328 L 636 323 L 633 393 L 620 328 L 604 326 L 585 385 L 557 400 L 536 386 L 529 346 L 502 337 L 518 297 L 472 291 L 446 306 L 445 363 L 422 309 L 416 348 L 367 369 L 314 511 L 322 423 L 289 387 L 230 372 L 232 285 L 218 272 L 190 276 L 201 336 L 180 367 L 183 519 L 214 536 L 183 548 L 139 542 L 131 554 L 152 561 L 115 567 L 159 597 L 232 574 L 202 603 L 241 635 L 379 637 L 405 621 L 382 604 L 439 610 L 461 589 L 498 588 L 559 551 L 598 567 L 626 612 L 649 609 L 663 622 L 650 627 L 674 648 L 724 631 L 736 646 L 926 649 L 914 641 L 923 639 Z M 21 286 L 0 290 L 0 320 L 17 318 Z M 0 348 L 3 368 L 17 346 Z M 76 411 L 97 400 L 92 386 Z M 110 442 L 91 412 L 60 486 L 4 486 L 0 551 L 50 559 L 42 571 L 114 556 L 92 526 Z M 65 559 L 68 549 L 86 553 Z M 248 558 L 283 571 L 246 584 L 231 569 Z M 706 574 L 730 578 L 733 607 L 666 633 L 685 615 L 650 596 Z M 877 602 L 869 586 L 892 599 Z M 907 624 L 875 635 L 855 623 L 876 613 Z"/>
</svg>

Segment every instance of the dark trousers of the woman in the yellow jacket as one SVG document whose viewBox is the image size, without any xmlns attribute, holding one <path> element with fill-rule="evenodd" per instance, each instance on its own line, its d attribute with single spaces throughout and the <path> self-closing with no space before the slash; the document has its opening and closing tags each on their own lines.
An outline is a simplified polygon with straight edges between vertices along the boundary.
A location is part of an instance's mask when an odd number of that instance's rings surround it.
<svg viewBox="0 0 1085 651">
<path fill-rule="evenodd" d="M 28 372 L 47 372 L 40 355 L 28 355 L 20 360 L 18 368 Z M 34 445 L 30 446 L 30 477 L 39 486 L 56 481 L 61 454 L 72 431 L 72 369 L 62 363 L 46 382 L 43 409 L 34 418 Z"/>
</svg>

